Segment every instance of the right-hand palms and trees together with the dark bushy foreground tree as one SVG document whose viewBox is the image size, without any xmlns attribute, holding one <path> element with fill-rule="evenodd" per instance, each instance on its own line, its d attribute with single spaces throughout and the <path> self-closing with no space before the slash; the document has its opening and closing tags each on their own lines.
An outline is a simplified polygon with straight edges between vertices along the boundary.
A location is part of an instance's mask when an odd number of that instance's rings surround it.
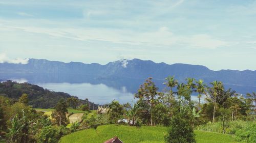
<svg viewBox="0 0 256 143">
<path fill-rule="evenodd" d="M 195 142 L 193 130 L 218 123 L 221 133 L 229 131 L 236 134 L 239 141 L 256 142 L 254 92 L 237 94 L 236 91 L 225 89 L 221 81 L 212 81 L 210 86 L 194 78 L 187 78 L 186 81 L 179 83 L 169 76 L 163 83 L 166 91 L 159 92 L 152 78 L 148 78 L 134 96 L 138 99 L 136 103 L 121 105 L 118 101 L 112 101 L 108 105 L 109 121 L 117 123 L 119 119 L 126 118 L 132 126 L 167 126 L 166 142 Z M 195 94 L 198 101 L 191 99 L 191 95 Z M 248 124 L 237 125 L 230 132 L 230 125 L 235 121 Z"/>
</svg>

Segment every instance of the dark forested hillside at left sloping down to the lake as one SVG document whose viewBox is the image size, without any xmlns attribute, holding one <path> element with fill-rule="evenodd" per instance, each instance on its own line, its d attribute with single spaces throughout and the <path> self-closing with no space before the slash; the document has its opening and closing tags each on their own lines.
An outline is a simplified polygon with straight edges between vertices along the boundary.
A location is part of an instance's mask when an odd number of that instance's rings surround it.
<svg viewBox="0 0 256 143">
<path fill-rule="evenodd" d="M 94 104 L 88 99 L 81 100 L 67 93 L 49 91 L 35 84 L 17 83 L 11 80 L 0 82 L 0 95 L 17 100 L 22 94 L 28 95 L 28 104 L 33 108 L 53 108 L 60 99 L 67 100 L 71 97 L 78 100 L 78 105 L 88 103 L 90 109 L 97 109 L 98 107 L 98 104 Z"/>
</svg>

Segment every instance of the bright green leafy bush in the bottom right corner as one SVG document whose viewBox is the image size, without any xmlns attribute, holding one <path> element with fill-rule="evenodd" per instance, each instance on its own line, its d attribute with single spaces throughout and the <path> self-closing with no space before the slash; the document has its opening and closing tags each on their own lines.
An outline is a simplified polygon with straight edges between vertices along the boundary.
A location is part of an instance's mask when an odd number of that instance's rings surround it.
<svg viewBox="0 0 256 143">
<path fill-rule="evenodd" d="M 256 124 L 238 130 L 235 135 L 235 138 L 238 141 L 256 142 Z"/>
</svg>

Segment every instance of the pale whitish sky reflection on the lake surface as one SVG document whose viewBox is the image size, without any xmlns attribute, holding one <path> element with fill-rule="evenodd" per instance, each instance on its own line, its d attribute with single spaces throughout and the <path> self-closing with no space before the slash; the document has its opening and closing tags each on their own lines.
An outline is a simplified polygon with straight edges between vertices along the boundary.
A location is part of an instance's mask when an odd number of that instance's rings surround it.
<svg viewBox="0 0 256 143">
<path fill-rule="evenodd" d="M 51 91 L 61 91 L 77 96 L 79 99 L 88 98 L 90 101 L 104 104 L 112 100 L 118 100 L 120 103 L 126 103 L 133 100 L 133 94 L 127 92 L 125 87 L 120 90 L 106 86 L 105 84 L 91 83 L 37 83 Z"/>
</svg>

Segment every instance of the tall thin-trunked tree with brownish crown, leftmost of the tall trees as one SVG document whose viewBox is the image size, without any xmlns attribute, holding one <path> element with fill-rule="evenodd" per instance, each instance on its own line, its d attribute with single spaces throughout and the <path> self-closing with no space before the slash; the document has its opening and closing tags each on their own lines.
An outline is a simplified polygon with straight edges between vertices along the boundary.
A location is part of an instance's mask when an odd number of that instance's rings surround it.
<svg viewBox="0 0 256 143">
<path fill-rule="evenodd" d="M 150 115 L 151 115 L 151 126 L 153 126 L 153 114 L 152 110 L 156 103 L 156 96 L 158 95 L 158 88 L 152 81 L 152 78 L 147 78 L 146 81 L 140 86 L 138 93 L 135 94 L 135 98 L 144 98 L 147 104 L 150 105 Z"/>
</svg>

